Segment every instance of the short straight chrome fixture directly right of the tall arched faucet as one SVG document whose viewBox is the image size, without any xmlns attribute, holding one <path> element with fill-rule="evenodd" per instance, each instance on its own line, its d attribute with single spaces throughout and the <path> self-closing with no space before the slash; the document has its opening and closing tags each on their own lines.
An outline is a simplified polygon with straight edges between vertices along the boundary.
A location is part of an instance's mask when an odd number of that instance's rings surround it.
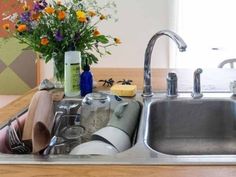
<svg viewBox="0 0 236 177">
<path fill-rule="evenodd" d="M 168 73 L 166 81 L 167 81 L 166 96 L 169 98 L 177 97 L 177 75 L 172 72 Z"/>
</svg>

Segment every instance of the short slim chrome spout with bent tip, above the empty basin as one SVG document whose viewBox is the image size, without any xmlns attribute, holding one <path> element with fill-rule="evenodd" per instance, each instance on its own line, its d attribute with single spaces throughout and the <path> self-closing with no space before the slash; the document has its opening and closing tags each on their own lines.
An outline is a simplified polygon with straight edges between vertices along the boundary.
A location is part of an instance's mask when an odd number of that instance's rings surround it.
<svg viewBox="0 0 236 177">
<path fill-rule="evenodd" d="M 193 74 L 193 98 L 201 98 L 203 95 L 201 93 L 201 82 L 200 82 L 200 74 L 202 73 L 202 69 L 198 68 L 194 71 Z"/>
</svg>

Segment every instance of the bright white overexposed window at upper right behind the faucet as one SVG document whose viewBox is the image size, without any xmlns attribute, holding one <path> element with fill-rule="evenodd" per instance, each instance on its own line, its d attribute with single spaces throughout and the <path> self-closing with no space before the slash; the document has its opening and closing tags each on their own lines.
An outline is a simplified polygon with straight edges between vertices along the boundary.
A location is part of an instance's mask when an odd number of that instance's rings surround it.
<svg viewBox="0 0 236 177">
<path fill-rule="evenodd" d="M 170 67 L 217 68 L 229 58 L 236 58 L 235 0 L 176 0 L 176 32 L 187 43 L 184 53 L 175 46 Z"/>
</svg>

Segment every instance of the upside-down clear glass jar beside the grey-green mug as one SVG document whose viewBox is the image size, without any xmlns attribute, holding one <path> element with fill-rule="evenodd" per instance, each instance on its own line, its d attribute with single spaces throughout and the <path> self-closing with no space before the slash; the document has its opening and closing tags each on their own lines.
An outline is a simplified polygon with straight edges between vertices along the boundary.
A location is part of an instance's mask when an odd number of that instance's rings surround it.
<svg viewBox="0 0 236 177">
<path fill-rule="evenodd" d="M 110 97 L 104 93 L 87 94 L 81 106 L 81 126 L 85 128 L 82 141 L 91 139 L 91 135 L 105 127 L 110 119 Z"/>
</svg>

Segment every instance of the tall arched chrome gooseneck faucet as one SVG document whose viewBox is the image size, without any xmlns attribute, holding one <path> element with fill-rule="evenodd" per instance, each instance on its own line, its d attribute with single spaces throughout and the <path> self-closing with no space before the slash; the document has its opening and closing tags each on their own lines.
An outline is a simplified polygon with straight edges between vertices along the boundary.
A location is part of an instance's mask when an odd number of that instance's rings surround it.
<svg viewBox="0 0 236 177">
<path fill-rule="evenodd" d="M 147 45 L 144 58 L 144 88 L 143 88 L 144 97 L 151 97 L 153 95 L 151 86 L 151 66 L 150 66 L 151 56 L 156 40 L 163 35 L 170 37 L 178 45 L 180 52 L 185 51 L 187 48 L 187 45 L 185 44 L 183 39 L 176 33 L 169 30 L 159 31 L 151 38 L 151 40 Z"/>
</svg>

